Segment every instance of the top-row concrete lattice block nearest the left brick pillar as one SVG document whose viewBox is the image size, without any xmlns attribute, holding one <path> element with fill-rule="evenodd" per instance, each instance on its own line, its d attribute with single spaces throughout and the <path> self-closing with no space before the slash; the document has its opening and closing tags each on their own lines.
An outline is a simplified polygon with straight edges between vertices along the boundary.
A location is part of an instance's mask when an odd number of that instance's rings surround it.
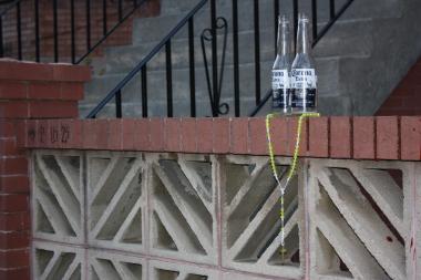
<svg viewBox="0 0 421 280">
<path fill-rule="evenodd" d="M 82 153 L 33 153 L 33 237 L 61 242 L 83 242 L 82 174 Z"/>
</svg>

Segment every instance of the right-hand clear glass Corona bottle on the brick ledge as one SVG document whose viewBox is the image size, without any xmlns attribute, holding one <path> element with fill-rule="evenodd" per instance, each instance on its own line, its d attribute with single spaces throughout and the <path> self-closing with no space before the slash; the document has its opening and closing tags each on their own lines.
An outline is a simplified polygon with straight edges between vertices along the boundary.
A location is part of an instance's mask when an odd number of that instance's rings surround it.
<svg viewBox="0 0 421 280">
<path fill-rule="evenodd" d="M 311 58 L 309 19 L 298 19 L 297 54 L 291 69 L 291 112 L 302 114 L 317 112 L 317 76 Z"/>
</svg>

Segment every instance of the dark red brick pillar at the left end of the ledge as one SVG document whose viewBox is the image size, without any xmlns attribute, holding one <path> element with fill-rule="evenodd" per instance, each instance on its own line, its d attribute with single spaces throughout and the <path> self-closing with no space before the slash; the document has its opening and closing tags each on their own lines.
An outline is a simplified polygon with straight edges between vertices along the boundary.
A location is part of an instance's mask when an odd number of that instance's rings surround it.
<svg viewBox="0 0 421 280">
<path fill-rule="evenodd" d="M 89 80 L 85 66 L 0 61 L 0 279 L 30 279 L 30 177 L 18 135 L 25 120 L 78 117 Z"/>
</svg>

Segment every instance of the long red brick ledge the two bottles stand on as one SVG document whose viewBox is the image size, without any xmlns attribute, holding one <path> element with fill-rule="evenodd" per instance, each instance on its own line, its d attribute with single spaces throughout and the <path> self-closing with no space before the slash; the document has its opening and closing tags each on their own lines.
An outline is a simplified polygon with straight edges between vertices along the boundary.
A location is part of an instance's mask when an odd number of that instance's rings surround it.
<svg viewBox="0 0 421 280">
<path fill-rule="evenodd" d="M 267 155 L 265 118 L 21 121 L 25 148 Z M 291 156 L 297 118 L 273 121 L 275 153 Z M 304 125 L 300 156 L 420 160 L 420 116 L 318 117 Z"/>
</svg>

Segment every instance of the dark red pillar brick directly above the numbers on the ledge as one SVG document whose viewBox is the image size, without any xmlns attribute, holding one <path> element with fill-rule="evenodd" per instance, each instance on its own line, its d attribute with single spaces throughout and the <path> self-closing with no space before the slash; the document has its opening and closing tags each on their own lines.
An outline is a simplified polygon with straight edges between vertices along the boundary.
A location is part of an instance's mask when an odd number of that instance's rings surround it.
<svg viewBox="0 0 421 280">
<path fill-rule="evenodd" d="M 78 102 L 73 101 L 31 101 L 30 117 L 65 118 L 78 117 Z"/>
</svg>

